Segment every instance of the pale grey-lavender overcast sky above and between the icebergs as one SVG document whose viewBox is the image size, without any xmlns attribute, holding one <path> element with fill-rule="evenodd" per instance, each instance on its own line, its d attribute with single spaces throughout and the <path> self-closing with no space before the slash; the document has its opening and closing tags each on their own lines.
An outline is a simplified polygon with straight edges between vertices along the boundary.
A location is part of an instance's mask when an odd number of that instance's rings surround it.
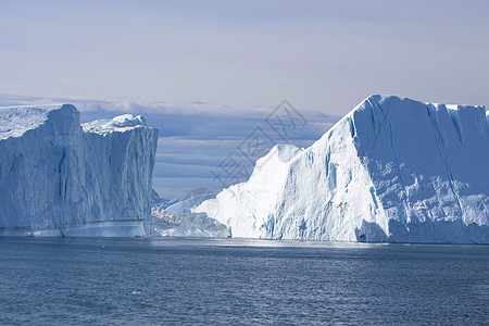
<svg viewBox="0 0 489 326">
<path fill-rule="evenodd" d="M 309 122 L 289 139 L 301 147 L 371 93 L 489 104 L 488 12 L 474 0 L 0 0 L 0 103 L 70 101 L 84 122 L 143 113 L 161 135 L 155 188 L 181 196 L 218 188 L 211 170 L 285 99 Z"/>
</svg>

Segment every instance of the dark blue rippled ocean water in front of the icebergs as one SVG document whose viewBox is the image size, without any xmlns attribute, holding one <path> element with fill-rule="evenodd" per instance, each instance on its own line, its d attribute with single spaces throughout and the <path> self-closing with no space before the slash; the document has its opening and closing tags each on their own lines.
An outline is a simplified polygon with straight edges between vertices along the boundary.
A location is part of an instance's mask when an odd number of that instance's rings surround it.
<svg viewBox="0 0 489 326">
<path fill-rule="evenodd" d="M 0 239 L 1 325 L 488 325 L 489 247 Z"/>
</svg>

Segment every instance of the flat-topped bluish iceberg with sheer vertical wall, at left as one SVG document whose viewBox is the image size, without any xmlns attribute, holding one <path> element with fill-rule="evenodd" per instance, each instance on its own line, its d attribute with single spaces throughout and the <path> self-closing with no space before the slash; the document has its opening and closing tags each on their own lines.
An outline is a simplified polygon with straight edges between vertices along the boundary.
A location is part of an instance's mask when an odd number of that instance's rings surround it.
<svg viewBox="0 0 489 326">
<path fill-rule="evenodd" d="M 141 116 L 0 108 L 0 235 L 147 235 L 156 141 Z"/>
</svg>

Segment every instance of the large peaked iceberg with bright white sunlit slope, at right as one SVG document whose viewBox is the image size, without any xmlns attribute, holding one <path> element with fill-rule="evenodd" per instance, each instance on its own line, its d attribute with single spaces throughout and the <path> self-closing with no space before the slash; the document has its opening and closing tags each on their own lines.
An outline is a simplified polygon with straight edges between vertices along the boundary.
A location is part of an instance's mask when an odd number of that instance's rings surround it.
<svg viewBox="0 0 489 326">
<path fill-rule="evenodd" d="M 488 166 L 484 106 L 372 96 L 310 148 L 272 149 L 214 217 L 233 237 L 488 243 Z"/>
</svg>

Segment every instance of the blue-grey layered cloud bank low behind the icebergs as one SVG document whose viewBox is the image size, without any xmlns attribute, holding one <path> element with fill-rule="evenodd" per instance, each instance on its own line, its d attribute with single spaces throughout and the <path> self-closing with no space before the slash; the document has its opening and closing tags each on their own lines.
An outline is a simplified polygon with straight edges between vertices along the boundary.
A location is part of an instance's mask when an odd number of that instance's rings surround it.
<svg viewBox="0 0 489 326">
<path fill-rule="evenodd" d="M 308 147 L 318 139 L 339 120 L 314 110 L 297 111 L 305 120 L 305 126 L 297 126 L 284 140 L 266 123 L 266 117 L 276 108 L 235 108 L 209 102 L 189 103 L 140 103 L 77 98 L 40 98 L 0 95 L 0 105 L 35 105 L 50 103 L 73 103 L 80 111 L 82 122 L 112 118 L 123 113 L 143 114 L 151 127 L 159 129 L 154 188 L 162 196 L 181 198 L 192 188 L 220 190 L 223 183 L 213 173 L 220 172 L 220 164 L 231 158 L 243 166 L 248 174 L 259 156 L 244 155 L 246 139 L 256 128 L 265 133 L 273 143 L 289 143 Z M 249 158 L 252 160 L 250 161 Z M 244 179 L 246 176 L 242 178 Z"/>
</svg>

